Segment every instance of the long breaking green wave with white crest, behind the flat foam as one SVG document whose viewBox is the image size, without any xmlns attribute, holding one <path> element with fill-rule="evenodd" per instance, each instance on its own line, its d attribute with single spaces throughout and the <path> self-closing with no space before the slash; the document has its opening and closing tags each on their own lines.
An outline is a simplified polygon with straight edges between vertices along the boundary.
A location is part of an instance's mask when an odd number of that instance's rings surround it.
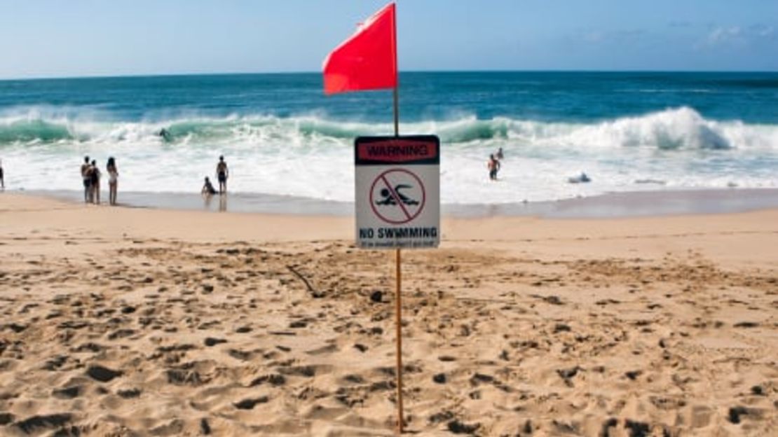
<svg viewBox="0 0 778 437">
<path fill-rule="evenodd" d="M 167 121 L 102 121 L 37 112 L 0 115 L 0 146 L 51 143 L 157 142 L 163 145 L 351 142 L 388 135 L 391 124 L 342 122 L 326 117 L 184 117 Z M 690 107 L 595 123 L 555 123 L 495 117 L 420 121 L 401 131 L 439 135 L 449 145 L 540 145 L 571 148 L 646 147 L 660 150 L 778 148 L 778 126 L 712 121 Z"/>
</svg>

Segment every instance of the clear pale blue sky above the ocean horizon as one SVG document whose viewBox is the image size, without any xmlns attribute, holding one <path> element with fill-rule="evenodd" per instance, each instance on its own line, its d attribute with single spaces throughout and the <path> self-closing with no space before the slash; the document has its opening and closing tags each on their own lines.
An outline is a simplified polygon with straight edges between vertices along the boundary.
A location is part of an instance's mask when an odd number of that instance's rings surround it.
<svg viewBox="0 0 778 437">
<path fill-rule="evenodd" d="M 0 79 L 318 72 L 376 0 L 0 0 Z M 398 0 L 401 71 L 778 71 L 775 0 Z"/>
</svg>

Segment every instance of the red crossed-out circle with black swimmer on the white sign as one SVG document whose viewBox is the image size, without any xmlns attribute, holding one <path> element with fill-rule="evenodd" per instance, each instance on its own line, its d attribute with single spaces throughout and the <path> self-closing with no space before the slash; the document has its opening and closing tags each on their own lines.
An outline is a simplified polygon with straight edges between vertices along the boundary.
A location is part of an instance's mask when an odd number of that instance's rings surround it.
<svg viewBox="0 0 778 437">
<path fill-rule="evenodd" d="M 418 217 L 426 203 L 422 180 L 409 170 L 394 168 L 380 173 L 370 187 L 370 207 L 375 215 L 393 225 Z"/>
</svg>

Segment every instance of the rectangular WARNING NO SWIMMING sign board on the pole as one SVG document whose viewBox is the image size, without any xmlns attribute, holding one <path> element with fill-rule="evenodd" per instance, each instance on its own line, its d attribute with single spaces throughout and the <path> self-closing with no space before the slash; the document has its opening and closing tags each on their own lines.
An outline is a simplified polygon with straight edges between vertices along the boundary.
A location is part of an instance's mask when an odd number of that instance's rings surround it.
<svg viewBox="0 0 778 437">
<path fill-rule="evenodd" d="M 355 143 L 356 242 L 366 249 L 440 243 L 440 140 L 359 137 Z"/>
</svg>

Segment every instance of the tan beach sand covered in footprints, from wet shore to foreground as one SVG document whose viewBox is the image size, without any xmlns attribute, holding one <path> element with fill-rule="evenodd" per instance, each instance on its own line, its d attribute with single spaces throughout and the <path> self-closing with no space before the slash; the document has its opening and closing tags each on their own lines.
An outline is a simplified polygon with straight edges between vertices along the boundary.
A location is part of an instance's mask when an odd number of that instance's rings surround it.
<svg viewBox="0 0 778 437">
<path fill-rule="evenodd" d="M 0 194 L 0 435 L 393 435 L 353 227 Z M 403 278 L 413 435 L 778 429 L 776 210 L 447 218 Z"/>
</svg>

